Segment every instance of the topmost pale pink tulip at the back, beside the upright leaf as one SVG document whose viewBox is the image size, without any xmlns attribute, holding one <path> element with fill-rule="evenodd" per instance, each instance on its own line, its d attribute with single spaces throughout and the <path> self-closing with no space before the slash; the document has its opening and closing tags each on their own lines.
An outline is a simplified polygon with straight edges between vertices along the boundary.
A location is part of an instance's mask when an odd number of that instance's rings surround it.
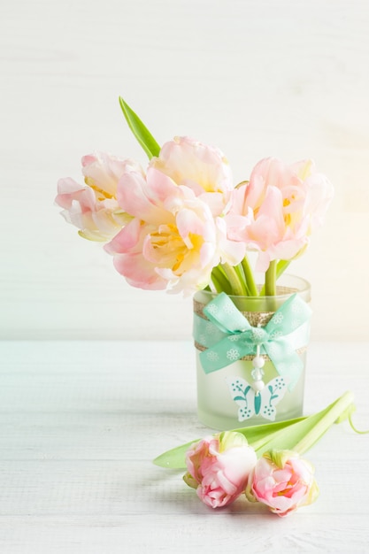
<svg viewBox="0 0 369 554">
<path fill-rule="evenodd" d="M 165 142 L 150 166 L 165 173 L 177 185 L 192 189 L 211 207 L 213 215 L 224 211 L 234 189 L 230 166 L 218 149 L 187 136 Z"/>
</svg>

